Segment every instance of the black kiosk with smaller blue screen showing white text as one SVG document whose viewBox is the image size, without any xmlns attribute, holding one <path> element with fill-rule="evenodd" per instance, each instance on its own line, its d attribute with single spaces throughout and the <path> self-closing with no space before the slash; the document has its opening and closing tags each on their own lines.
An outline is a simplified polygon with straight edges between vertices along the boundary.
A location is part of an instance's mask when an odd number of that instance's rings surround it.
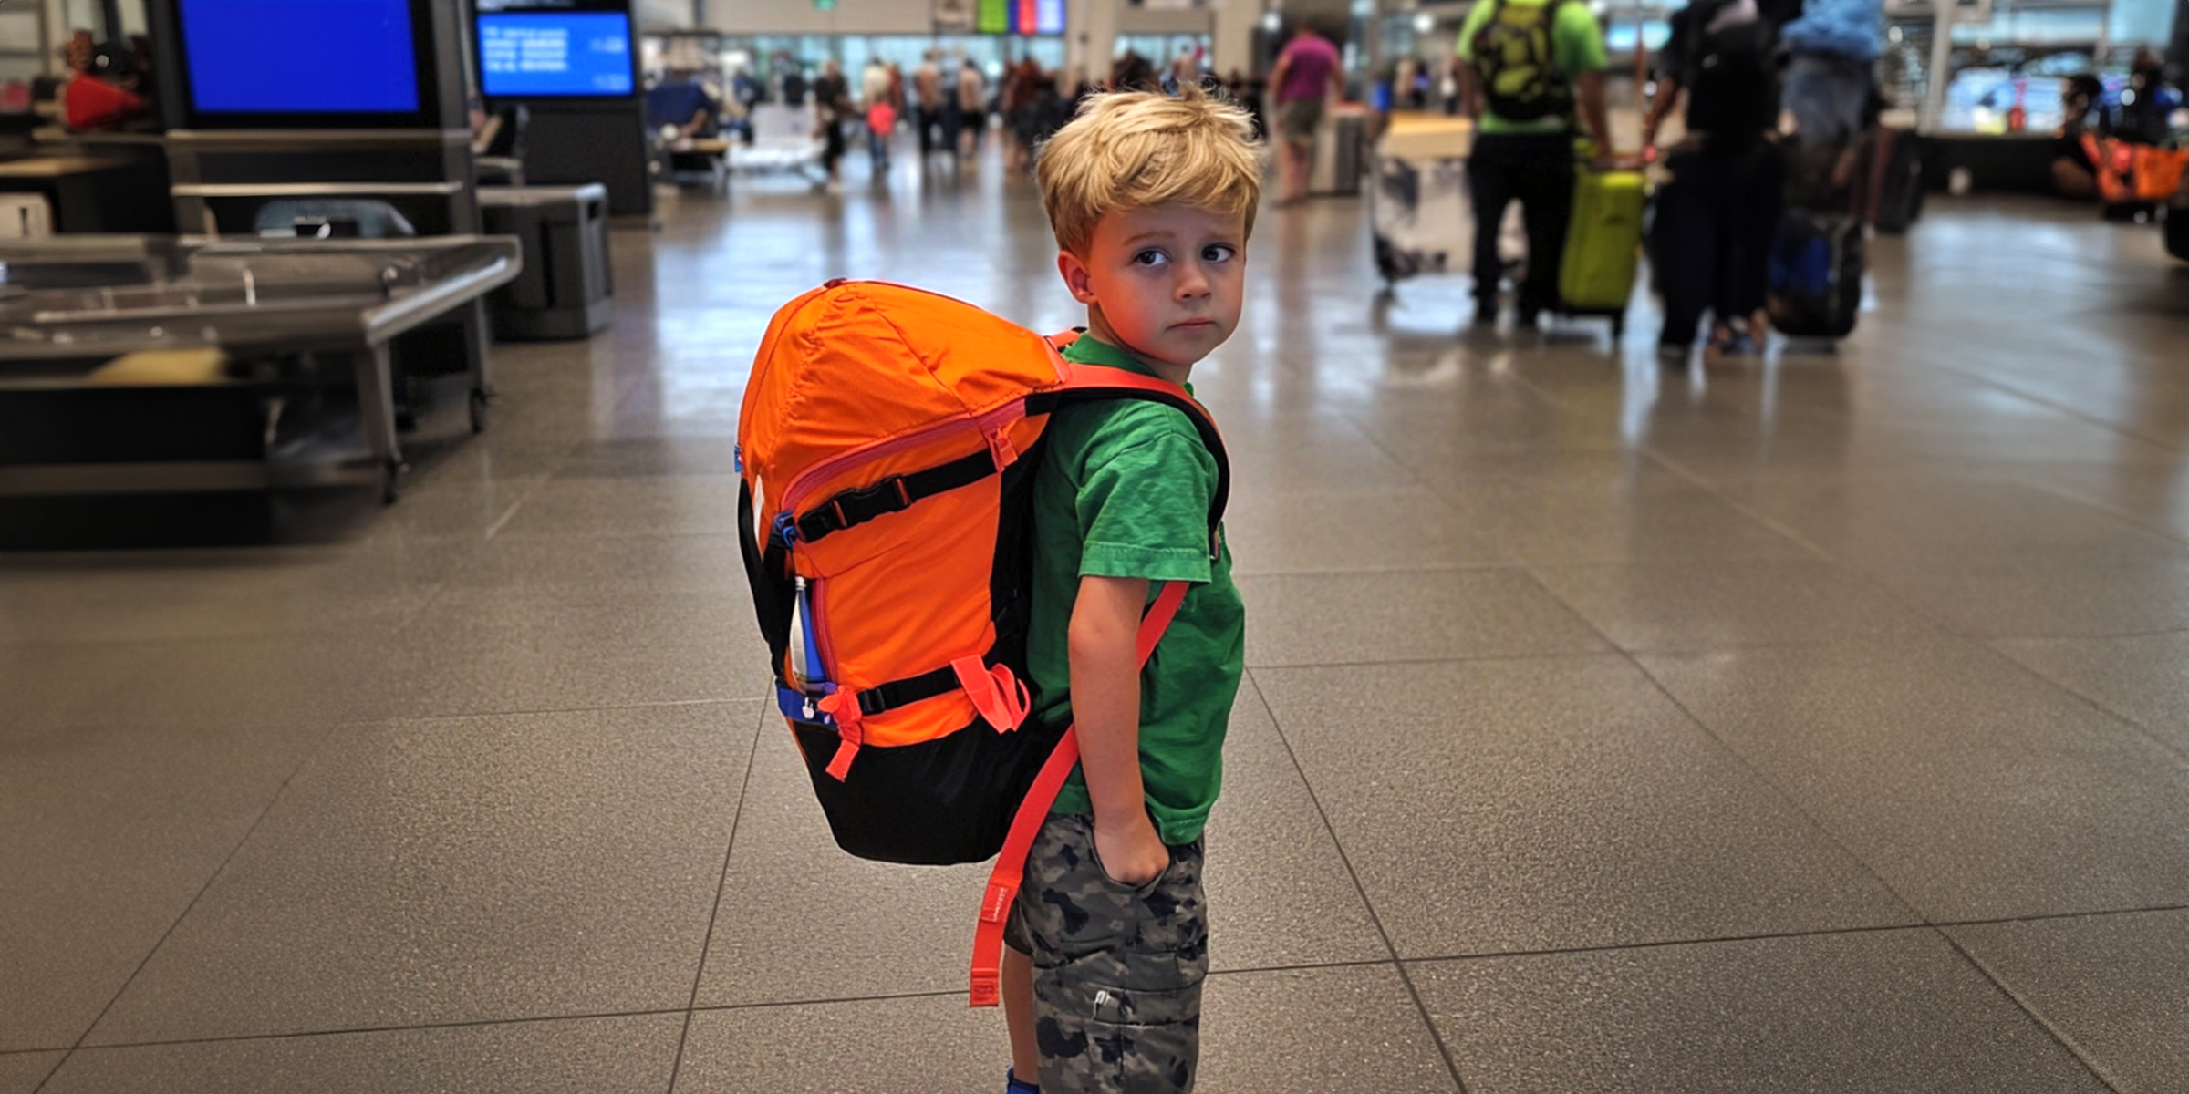
<svg viewBox="0 0 2189 1094">
<path fill-rule="evenodd" d="M 613 217 L 652 217 L 630 0 L 477 0 L 471 37 L 486 105 L 530 114 L 528 184 L 598 182 Z"/>
</svg>

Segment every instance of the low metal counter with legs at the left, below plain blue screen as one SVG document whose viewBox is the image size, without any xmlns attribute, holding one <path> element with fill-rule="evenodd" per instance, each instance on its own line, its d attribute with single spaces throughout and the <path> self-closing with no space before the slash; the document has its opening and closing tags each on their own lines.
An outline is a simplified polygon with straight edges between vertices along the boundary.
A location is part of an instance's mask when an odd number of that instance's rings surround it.
<svg viewBox="0 0 2189 1094">
<path fill-rule="evenodd" d="M 403 470 L 392 344 L 422 337 L 427 326 L 451 337 L 460 328 L 462 346 L 431 357 L 460 359 L 462 368 L 449 372 L 466 374 L 471 427 L 484 429 L 493 392 L 484 298 L 517 278 L 521 265 L 510 236 L 4 241 L 0 424 L 18 440 L 0 438 L 0 494 L 377 481 L 392 501 Z M 114 383 L 99 374 L 140 350 L 221 350 L 225 365 L 217 376 L 179 383 Z M 355 422 L 317 431 L 291 422 L 285 431 L 293 403 L 352 385 Z M 53 407 L 77 414 L 83 429 L 112 431 L 114 420 L 160 422 L 162 407 L 188 414 L 193 398 L 223 394 L 263 411 L 263 451 L 254 457 L 129 457 L 127 438 L 101 449 L 96 438 L 50 427 Z M 101 414 L 101 405 L 127 414 Z M 50 440 L 46 449 L 24 440 L 26 422 Z"/>
</svg>

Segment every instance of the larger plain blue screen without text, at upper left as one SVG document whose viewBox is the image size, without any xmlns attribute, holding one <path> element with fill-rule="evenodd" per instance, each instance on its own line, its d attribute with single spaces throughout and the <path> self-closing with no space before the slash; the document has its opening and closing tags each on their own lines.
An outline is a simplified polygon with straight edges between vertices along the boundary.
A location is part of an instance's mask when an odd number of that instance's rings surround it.
<svg viewBox="0 0 2189 1094">
<path fill-rule="evenodd" d="M 420 112 L 412 0 L 179 0 L 177 11 L 195 114 Z"/>
</svg>

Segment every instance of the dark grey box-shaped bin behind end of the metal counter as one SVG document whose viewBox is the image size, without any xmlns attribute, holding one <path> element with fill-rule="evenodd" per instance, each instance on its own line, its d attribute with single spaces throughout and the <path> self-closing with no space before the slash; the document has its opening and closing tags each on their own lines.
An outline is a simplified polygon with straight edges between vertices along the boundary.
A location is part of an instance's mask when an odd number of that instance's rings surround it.
<svg viewBox="0 0 2189 1094">
<path fill-rule="evenodd" d="M 582 339 L 609 326 L 606 186 L 479 186 L 479 221 L 525 254 L 523 274 L 488 300 L 495 337 Z"/>
</svg>

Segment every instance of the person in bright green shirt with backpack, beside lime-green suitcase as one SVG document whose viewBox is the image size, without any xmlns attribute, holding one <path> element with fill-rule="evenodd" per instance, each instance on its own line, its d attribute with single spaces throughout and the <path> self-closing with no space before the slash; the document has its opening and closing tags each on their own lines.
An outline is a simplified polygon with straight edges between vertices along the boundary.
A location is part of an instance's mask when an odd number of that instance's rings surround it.
<svg viewBox="0 0 2189 1094">
<path fill-rule="evenodd" d="M 1519 201 L 1528 278 L 1519 324 L 1559 304 L 1559 256 L 1574 214 L 1574 123 L 1611 158 L 1605 33 L 1583 0 L 1480 0 L 1460 26 L 1460 101 L 1475 120 L 1467 182 L 1475 206 L 1475 324 L 1497 322 L 1497 225 Z"/>
</svg>

